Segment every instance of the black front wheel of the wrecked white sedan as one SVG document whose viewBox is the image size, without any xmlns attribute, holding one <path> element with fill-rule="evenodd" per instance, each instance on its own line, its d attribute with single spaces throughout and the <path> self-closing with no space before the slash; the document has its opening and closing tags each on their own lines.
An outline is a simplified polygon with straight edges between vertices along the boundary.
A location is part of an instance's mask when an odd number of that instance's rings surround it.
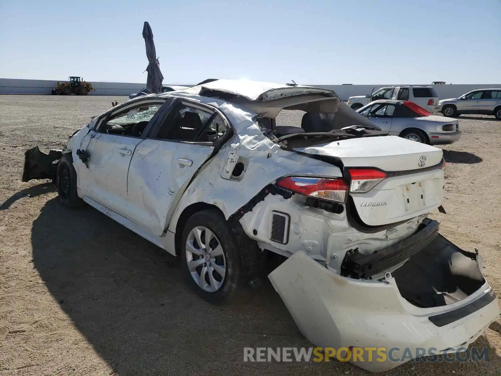
<svg viewBox="0 0 501 376">
<path fill-rule="evenodd" d="M 77 194 L 77 171 L 71 156 L 63 154 L 58 163 L 56 188 L 60 203 L 70 209 L 80 208 L 84 201 Z"/>
</svg>

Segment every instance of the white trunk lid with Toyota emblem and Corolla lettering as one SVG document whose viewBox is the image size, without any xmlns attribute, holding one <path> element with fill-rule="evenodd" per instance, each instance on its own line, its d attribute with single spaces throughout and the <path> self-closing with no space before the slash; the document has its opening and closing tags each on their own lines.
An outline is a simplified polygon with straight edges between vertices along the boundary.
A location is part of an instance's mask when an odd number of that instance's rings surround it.
<svg viewBox="0 0 501 376">
<path fill-rule="evenodd" d="M 443 201 L 442 150 L 397 136 L 361 137 L 296 150 L 339 158 L 345 167 L 378 168 L 387 177 L 367 193 L 350 193 L 356 212 L 369 226 L 414 218 Z M 350 205 L 350 203 L 347 203 Z"/>
</svg>

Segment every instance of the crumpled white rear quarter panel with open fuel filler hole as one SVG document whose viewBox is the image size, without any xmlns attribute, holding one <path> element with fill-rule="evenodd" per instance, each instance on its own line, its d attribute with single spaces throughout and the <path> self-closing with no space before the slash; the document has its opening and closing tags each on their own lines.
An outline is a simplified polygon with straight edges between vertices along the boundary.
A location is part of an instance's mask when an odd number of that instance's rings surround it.
<svg viewBox="0 0 501 376">
<path fill-rule="evenodd" d="M 263 134 L 253 121 L 255 114 L 252 112 L 229 103 L 223 103 L 218 108 L 232 124 L 238 124 L 237 132 L 191 182 L 172 217 L 169 231 L 175 232 L 182 211 L 197 202 L 217 206 L 228 219 L 266 185 L 281 176 L 342 176 L 340 169 L 334 165 L 281 149 Z M 234 152 L 236 158 L 248 159 L 248 165 L 239 181 L 221 177 L 229 152 Z"/>
</svg>

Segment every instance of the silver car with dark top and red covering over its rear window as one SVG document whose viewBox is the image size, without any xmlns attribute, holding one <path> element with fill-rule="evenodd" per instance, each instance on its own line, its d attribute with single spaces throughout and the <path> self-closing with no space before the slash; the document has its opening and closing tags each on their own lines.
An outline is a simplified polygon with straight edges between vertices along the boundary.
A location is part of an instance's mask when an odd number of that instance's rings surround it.
<svg viewBox="0 0 501 376">
<path fill-rule="evenodd" d="M 446 145 L 461 137 L 457 119 L 432 115 L 409 101 L 381 99 L 357 110 L 392 135 L 430 145 Z"/>
</svg>

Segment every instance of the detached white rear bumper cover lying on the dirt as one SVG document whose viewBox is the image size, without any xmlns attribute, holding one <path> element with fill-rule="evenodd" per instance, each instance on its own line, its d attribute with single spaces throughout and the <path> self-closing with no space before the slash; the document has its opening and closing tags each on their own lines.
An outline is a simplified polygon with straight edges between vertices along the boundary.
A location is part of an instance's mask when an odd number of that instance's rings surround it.
<svg viewBox="0 0 501 376">
<path fill-rule="evenodd" d="M 480 261 L 477 259 L 476 264 L 481 269 Z M 415 357 L 422 356 L 416 353 L 417 347 L 436 348 L 435 354 L 457 351 L 501 316 L 487 282 L 453 304 L 420 308 L 402 297 L 394 278 L 380 282 L 342 277 L 302 251 L 269 278 L 303 335 L 314 345 L 336 349 L 398 347 L 392 352 L 393 359 L 402 357 L 406 347 Z M 409 360 L 373 359 L 369 362 L 365 356 L 364 362 L 350 361 L 378 372 Z"/>
</svg>

